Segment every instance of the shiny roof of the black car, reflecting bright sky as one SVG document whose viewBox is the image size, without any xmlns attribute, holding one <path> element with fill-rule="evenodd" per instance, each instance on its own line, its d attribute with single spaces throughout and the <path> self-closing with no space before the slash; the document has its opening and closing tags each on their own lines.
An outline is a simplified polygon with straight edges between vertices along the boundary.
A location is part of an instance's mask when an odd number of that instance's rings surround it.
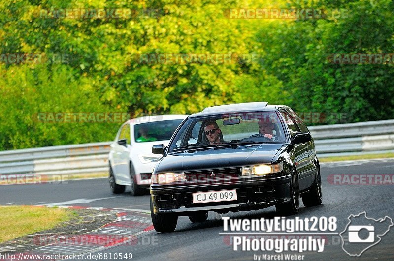
<svg viewBox="0 0 394 261">
<path fill-rule="evenodd" d="M 286 105 L 268 105 L 268 102 L 245 102 L 207 107 L 202 110 L 202 112 L 192 114 L 189 117 L 218 115 L 232 112 L 276 111 L 279 107 L 289 108 Z"/>
</svg>

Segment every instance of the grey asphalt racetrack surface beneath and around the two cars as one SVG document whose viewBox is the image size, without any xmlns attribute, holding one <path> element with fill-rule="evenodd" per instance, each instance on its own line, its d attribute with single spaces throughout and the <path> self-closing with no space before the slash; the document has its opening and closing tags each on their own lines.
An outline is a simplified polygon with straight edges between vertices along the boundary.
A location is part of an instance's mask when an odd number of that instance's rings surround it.
<svg viewBox="0 0 394 261">
<path fill-rule="evenodd" d="M 348 224 L 350 214 L 366 211 L 369 218 L 389 216 L 394 219 L 393 184 L 358 185 L 332 184 L 333 174 L 394 174 L 394 159 L 353 161 L 322 164 L 323 204 L 305 208 L 302 203 L 298 217 L 335 216 L 337 231 L 342 232 Z M 331 180 L 331 182 L 328 182 Z M 7 185 L 0 186 L 0 204 L 32 205 L 78 205 L 125 209 L 149 210 L 149 195 L 132 197 L 129 191 L 113 195 L 107 179 L 68 181 L 66 184 Z M 275 208 L 259 211 L 224 214 L 231 218 L 272 218 Z M 230 237 L 223 233 L 223 221 L 210 212 L 203 223 L 191 223 L 187 217 L 179 217 L 175 232 L 160 234 L 149 232 L 136 245 L 120 245 L 100 250 L 99 253 L 132 253 L 137 260 L 252 260 L 253 255 L 275 254 L 262 251 L 233 251 Z M 361 260 L 392 259 L 394 257 L 394 227 L 381 242 L 365 251 Z M 328 244 L 323 253 L 304 252 L 304 260 L 356 259 L 342 249 L 338 236 L 327 236 Z"/>
</svg>

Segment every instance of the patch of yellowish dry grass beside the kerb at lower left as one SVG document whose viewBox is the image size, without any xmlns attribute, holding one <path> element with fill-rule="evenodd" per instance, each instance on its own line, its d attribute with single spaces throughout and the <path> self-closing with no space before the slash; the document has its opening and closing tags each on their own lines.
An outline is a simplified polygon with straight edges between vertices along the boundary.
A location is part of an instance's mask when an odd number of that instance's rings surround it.
<svg viewBox="0 0 394 261">
<path fill-rule="evenodd" d="M 65 208 L 0 206 L 0 242 L 54 228 L 75 215 Z"/>
</svg>

